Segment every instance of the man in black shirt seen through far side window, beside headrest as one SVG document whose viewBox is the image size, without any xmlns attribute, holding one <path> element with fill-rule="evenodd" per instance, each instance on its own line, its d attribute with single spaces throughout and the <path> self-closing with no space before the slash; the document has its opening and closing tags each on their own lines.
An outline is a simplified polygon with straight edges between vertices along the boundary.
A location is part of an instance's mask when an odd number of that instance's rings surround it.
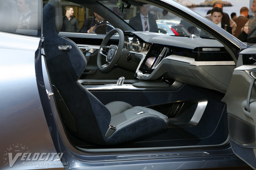
<svg viewBox="0 0 256 170">
<path fill-rule="evenodd" d="M 65 7 L 66 14 L 62 17 L 63 23 L 61 31 L 65 32 L 78 32 L 79 26 L 75 17 L 73 17 L 74 10 L 71 6 Z"/>
</svg>

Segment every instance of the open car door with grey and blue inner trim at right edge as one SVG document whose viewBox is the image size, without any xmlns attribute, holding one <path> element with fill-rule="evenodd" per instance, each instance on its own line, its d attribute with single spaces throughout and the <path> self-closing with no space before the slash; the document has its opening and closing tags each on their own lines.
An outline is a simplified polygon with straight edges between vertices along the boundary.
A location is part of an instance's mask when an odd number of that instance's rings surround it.
<svg viewBox="0 0 256 170">
<path fill-rule="evenodd" d="M 227 104 L 228 130 L 233 152 L 256 169 L 256 48 L 239 55 L 240 63 L 223 102 Z"/>
</svg>

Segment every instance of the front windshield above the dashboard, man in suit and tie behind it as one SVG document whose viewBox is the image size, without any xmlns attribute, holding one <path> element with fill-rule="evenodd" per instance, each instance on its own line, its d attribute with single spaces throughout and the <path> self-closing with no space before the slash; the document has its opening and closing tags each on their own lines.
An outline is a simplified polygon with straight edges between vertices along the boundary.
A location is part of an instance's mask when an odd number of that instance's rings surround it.
<svg viewBox="0 0 256 170">
<path fill-rule="evenodd" d="M 99 2 L 125 20 L 136 31 L 150 31 L 186 37 L 191 34 L 200 36 L 202 32 L 186 20 L 157 6 L 139 3 L 138 1 L 133 1 L 132 4 L 119 3 L 120 1 L 118 0 L 103 0 Z M 204 37 L 209 38 L 205 34 Z"/>
</svg>

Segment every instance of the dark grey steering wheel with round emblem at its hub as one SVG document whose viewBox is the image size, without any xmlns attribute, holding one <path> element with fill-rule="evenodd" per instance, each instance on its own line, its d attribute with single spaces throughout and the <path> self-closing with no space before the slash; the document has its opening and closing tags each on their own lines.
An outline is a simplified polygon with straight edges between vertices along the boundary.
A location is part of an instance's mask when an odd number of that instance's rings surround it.
<svg viewBox="0 0 256 170">
<path fill-rule="evenodd" d="M 107 43 L 110 40 L 110 38 L 118 33 L 119 34 L 119 43 L 118 46 L 116 45 L 110 45 L 110 47 L 107 47 Z M 100 47 L 99 47 L 99 53 L 97 55 L 97 66 L 100 71 L 102 72 L 109 72 L 113 69 L 114 65 L 120 58 L 124 46 L 125 36 L 121 29 L 114 28 L 112 29 L 104 38 L 102 41 Z M 107 63 L 102 65 L 102 57 L 106 58 Z"/>
</svg>

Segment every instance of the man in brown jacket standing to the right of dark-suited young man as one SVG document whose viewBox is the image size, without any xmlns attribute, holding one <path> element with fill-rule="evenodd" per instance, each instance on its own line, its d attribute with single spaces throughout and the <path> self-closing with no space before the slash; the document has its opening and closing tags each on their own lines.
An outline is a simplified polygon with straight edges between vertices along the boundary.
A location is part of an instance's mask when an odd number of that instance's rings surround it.
<svg viewBox="0 0 256 170">
<path fill-rule="evenodd" d="M 249 9 L 247 7 L 242 7 L 240 9 L 240 16 L 234 18 L 233 20 L 236 22 L 236 34 L 234 35 L 236 38 L 241 34 L 241 28 L 244 27 L 244 25 L 247 23 L 249 20 L 248 17 L 249 14 Z"/>
</svg>

